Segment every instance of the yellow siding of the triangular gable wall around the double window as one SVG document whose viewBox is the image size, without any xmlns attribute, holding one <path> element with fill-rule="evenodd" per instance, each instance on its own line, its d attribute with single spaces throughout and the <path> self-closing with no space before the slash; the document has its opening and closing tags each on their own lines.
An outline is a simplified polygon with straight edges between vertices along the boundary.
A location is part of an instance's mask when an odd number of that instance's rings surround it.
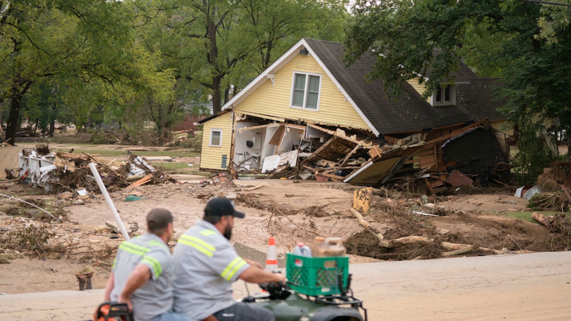
<svg viewBox="0 0 571 321">
<path fill-rule="evenodd" d="M 289 107 L 293 71 L 321 74 L 319 110 Z M 311 55 L 297 55 L 275 74 L 275 86 L 267 79 L 258 89 L 234 106 L 236 113 L 274 115 L 288 119 L 369 129 L 363 118 L 345 100 Z"/>
</svg>

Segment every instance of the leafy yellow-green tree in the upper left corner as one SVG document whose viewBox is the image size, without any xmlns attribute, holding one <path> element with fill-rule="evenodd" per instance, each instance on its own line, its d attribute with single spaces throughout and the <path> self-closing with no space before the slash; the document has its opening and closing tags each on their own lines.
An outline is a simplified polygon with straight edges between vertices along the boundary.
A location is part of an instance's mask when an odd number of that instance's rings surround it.
<svg viewBox="0 0 571 321">
<path fill-rule="evenodd" d="M 137 1 L 3 1 L 0 6 L 0 98 L 10 104 L 6 138 L 14 136 L 23 98 L 36 82 L 57 83 L 66 105 L 83 117 L 156 83 L 148 81 L 148 55 L 136 43 Z"/>
</svg>

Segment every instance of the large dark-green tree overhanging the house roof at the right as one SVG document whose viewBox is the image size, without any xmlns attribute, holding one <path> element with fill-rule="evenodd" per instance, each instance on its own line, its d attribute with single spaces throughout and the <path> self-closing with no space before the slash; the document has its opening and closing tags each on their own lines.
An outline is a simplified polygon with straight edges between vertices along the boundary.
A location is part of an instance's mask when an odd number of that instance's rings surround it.
<svg viewBox="0 0 571 321">
<path fill-rule="evenodd" d="M 456 57 L 465 58 L 480 74 L 502 77 L 497 91 L 506 102 L 502 111 L 526 135 L 543 133 L 543 121 L 550 118 L 569 131 L 570 37 L 566 27 L 550 34 L 557 44 L 541 37 L 538 21 L 548 17 L 541 8 L 512 0 L 357 1 L 344 41 L 345 59 L 352 63 L 369 48 L 375 50 L 368 77 L 384 79 L 391 97 L 398 97 L 403 79 L 429 74 L 428 97 L 453 82 Z M 433 56 L 434 48 L 441 51 Z M 525 159 L 525 170 L 536 177 L 536 164 L 545 159 L 533 157 L 535 149 L 529 147 L 521 143 L 518 159 Z"/>
</svg>

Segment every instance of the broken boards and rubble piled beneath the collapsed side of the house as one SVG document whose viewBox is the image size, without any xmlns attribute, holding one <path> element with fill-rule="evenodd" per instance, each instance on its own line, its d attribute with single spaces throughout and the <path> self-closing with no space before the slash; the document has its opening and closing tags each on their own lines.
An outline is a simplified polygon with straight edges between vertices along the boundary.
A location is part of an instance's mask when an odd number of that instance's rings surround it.
<svg viewBox="0 0 571 321">
<path fill-rule="evenodd" d="M 384 135 L 384 142 L 355 130 L 308 124 L 324 133 L 324 142 L 302 141 L 294 150 L 264 157 L 262 173 L 270 178 L 315 178 L 403 191 L 421 187 L 432 194 L 475 182 L 507 186 L 512 179 L 509 146 L 484 124 L 485 119 L 406 137 Z"/>
</svg>

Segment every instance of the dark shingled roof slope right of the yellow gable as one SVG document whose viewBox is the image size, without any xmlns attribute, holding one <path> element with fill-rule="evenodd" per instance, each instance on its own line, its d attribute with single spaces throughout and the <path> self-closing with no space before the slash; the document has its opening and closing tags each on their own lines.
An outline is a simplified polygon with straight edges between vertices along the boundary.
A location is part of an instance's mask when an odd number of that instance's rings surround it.
<svg viewBox="0 0 571 321">
<path fill-rule="evenodd" d="M 365 75 L 371 71 L 376 59 L 372 52 L 363 54 L 353 65 L 345 67 L 341 60 L 344 55 L 341 43 L 307 38 L 305 41 L 381 134 L 431 129 L 480 120 L 479 116 L 475 117 L 475 114 L 465 106 L 467 104 L 431 106 L 408 83 L 403 84 L 399 102 L 393 102 L 383 92 L 381 79 L 373 82 L 365 80 Z M 473 77 L 471 71 L 461 74 Z M 463 95 L 463 97 L 470 96 L 469 93 Z M 483 99 L 478 98 L 476 101 L 477 104 L 470 106 L 479 106 L 483 103 Z M 478 115 L 481 114 L 485 113 Z"/>
</svg>

